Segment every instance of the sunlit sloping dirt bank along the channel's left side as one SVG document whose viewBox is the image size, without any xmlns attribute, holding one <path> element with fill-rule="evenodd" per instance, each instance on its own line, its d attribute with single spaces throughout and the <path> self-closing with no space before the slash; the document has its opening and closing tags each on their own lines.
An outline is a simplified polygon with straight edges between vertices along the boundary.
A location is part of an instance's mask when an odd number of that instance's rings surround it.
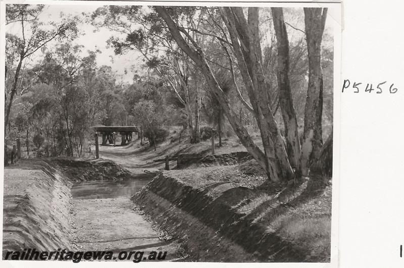
<svg viewBox="0 0 404 268">
<path fill-rule="evenodd" d="M 71 183 L 39 159 L 20 161 L 4 174 L 3 254 L 24 248 L 73 249 Z"/>
</svg>

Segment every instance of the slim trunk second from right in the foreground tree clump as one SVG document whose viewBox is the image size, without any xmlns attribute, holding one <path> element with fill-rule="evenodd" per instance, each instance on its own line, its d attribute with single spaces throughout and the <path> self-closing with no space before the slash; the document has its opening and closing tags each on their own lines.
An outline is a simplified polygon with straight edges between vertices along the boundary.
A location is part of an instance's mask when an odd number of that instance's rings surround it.
<svg viewBox="0 0 404 268">
<path fill-rule="evenodd" d="M 285 126 L 286 152 L 290 165 L 297 167 L 300 141 L 289 80 L 289 41 L 282 8 L 271 8 L 278 46 L 277 78 L 279 103 Z"/>
</svg>

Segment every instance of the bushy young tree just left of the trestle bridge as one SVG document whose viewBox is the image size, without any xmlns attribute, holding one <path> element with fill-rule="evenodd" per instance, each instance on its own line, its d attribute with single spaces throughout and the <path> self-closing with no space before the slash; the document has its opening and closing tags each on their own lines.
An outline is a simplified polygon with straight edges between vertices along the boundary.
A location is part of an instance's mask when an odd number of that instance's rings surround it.
<svg viewBox="0 0 404 268">
<path fill-rule="evenodd" d="M 81 56 L 81 46 L 62 43 L 46 52 L 42 62 L 36 66 L 40 82 L 51 86 L 53 98 L 58 105 L 60 131 L 63 133 L 71 156 L 80 154 L 85 130 L 89 123 L 88 92 L 83 90 L 81 79 L 84 71 L 95 68 L 95 53 Z M 87 103 L 86 103 L 87 102 Z"/>
</svg>

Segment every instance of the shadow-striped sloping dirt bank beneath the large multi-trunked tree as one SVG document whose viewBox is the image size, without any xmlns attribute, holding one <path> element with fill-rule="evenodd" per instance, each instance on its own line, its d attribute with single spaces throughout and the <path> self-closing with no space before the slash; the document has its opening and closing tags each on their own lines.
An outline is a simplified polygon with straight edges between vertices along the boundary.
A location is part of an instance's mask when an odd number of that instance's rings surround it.
<svg viewBox="0 0 404 268">
<path fill-rule="evenodd" d="M 247 174 L 237 166 L 164 171 L 132 200 L 190 260 L 329 261 L 331 186 L 263 190 L 265 178 Z"/>
</svg>

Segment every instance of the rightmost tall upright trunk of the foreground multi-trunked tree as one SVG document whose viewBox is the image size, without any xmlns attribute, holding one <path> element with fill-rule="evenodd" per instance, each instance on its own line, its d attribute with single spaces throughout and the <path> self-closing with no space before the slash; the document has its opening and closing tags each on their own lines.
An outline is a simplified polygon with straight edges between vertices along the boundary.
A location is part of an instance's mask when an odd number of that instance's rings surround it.
<svg viewBox="0 0 404 268">
<path fill-rule="evenodd" d="M 305 128 L 301 143 L 299 172 L 309 174 L 313 160 L 323 145 L 321 118 L 323 114 L 323 75 L 321 70 L 321 40 L 327 9 L 305 8 L 305 31 L 309 57 L 309 85 L 305 105 Z"/>
</svg>

